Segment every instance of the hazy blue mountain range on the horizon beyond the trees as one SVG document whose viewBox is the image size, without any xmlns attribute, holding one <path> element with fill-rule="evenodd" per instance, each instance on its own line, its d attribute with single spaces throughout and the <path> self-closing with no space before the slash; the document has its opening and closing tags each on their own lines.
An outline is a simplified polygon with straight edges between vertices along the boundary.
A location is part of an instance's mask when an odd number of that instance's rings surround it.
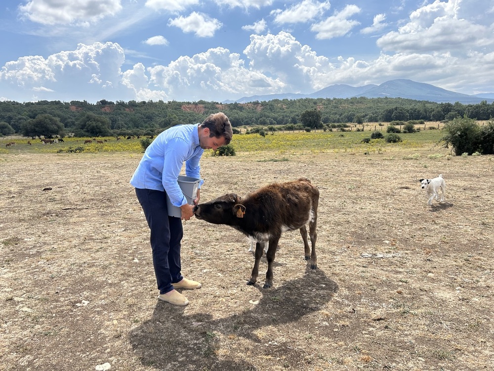
<svg viewBox="0 0 494 371">
<path fill-rule="evenodd" d="M 437 103 L 460 102 L 462 104 L 475 104 L 480 103 L 482 100 L 487 100 L 488 103 L 492 103 L 494 101 L 494 93 L 483 93 L 475 95 L 454 93 L 430 84 L 417 83 L 415 81 L 406 79 L 397 79 L 386 81 L 381 85 L 370 84 L 361 87 L 336 84 L 310 94 L 286 93 L 244 96 L 237 100 L 225 100 L 223 103 L 247 103 L 256 100 L 267 101 L 273 99 L 352 98 L 361 96 L 365 96 L 368 98 L 389 97 L 428 100 Z"/>
</svg>

